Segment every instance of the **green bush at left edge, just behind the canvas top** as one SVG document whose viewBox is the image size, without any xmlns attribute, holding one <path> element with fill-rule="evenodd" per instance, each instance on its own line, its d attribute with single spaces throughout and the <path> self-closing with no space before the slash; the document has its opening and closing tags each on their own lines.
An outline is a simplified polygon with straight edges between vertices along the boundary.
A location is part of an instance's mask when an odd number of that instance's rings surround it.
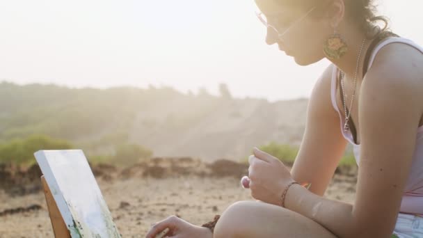
<svg viewBox="0 0 423 238">
<path fill-rule="evenodd" d="M 38 150 L 68 150 L 72 145 L 61 139 L 45 135 L 32 135 L 0 145 L 0 163 L 31 165 Z"/>
</svg>

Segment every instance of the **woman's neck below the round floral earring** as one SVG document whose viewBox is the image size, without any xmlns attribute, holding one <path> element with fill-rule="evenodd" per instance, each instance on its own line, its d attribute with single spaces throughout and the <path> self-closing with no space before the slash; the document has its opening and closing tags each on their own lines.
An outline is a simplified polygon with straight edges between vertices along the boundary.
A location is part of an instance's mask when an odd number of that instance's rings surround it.
<svg viewBox="0 0 423 238">
<path fill-rule="evenodd" d="M 345 29 L 345 28 L 344 28 Z M 348 29 L 346 31 L 340 31 L 340 35 L 344 38 L 346 45 L 348 45 L 348 51 L 342 56 L 342 58 L 333 60 L 329 59 L 334 63 L 337 68 L 340 68 L 345 73 L 346 79 L 353 80 L 356 76 L 356 67 L 360 49 L 362 47 L 363 39 L 366 38 L 365 33 L 362 33 L 358 29 Z M 358 64 L 357 79 L 361 79 L 362 65 L 365 58 L 366 51 L 371 43 L 371 40 L 366 40 L 364 47 L 361 51 L 360 62 Z"/>
</svg>

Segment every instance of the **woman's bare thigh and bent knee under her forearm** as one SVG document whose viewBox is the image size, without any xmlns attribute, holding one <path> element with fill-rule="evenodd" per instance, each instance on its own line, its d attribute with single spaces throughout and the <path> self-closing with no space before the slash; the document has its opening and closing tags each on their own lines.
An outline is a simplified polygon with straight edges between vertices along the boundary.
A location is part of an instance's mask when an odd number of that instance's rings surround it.
<svg viewBox="0 0 423 238">
<path fill-rule="evenodd" d="M 323 226 L 289 209 L 241 201 L 223 212 L 214 237 L 336 237 Z"/>
</svg>

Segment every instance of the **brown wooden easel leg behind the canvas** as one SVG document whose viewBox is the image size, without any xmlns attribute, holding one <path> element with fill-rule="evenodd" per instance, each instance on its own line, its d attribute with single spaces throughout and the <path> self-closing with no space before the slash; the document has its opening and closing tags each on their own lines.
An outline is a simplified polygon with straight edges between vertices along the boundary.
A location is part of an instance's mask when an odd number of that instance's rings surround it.
<svg viewBox="0 0 423 238">
<path fill-rule="evenodd" d="M 67 230 L 65 221 L 61 212 L 58 211 L 56 202 L 54 201 L 53 196 L 47 182 L 45 182 L 44 175 L 41 176 L 42 189 L 44 190 L 45 200 L 47 202 L 47 208 L 49 209 L 49 216 L 51 221 L 51 226 L 53 227 L 54 237 L 56 238 L 70 238 L 70 232 Z"/>
</svg>

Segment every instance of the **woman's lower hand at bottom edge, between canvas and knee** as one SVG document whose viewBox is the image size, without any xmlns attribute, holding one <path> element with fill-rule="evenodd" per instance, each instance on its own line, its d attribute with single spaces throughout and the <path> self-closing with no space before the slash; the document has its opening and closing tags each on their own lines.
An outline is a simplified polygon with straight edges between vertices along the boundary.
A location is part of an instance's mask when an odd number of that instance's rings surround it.
<svg viewBox="0 0 423 238">
<path fill-rule="evenodd" d="M 168 232 L 161 237 L 188 238 L 188 237 L 213 237 L 213 233 L 208 228 L 193 225 L 177 216 L 169 216 L 163 221 L 154 223 L 147 232 L 145 238 L 156 238 L 163 230 L 168 228 Z M 160 237 L 160 238 L 161 238 Z"/>
</svg>

